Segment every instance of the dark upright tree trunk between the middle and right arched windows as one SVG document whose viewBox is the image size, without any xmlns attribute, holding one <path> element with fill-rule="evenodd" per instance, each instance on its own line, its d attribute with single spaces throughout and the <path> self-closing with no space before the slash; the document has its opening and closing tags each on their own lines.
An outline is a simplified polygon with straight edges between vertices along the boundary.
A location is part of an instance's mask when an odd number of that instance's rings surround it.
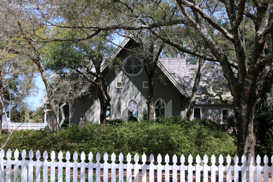
<svg viewBox="0 0 273 182">
<path fill-rule="evenodd" d="M 146 70 L 146 65 L 145 65 Z M 148 74 L 148 99 L 146 101 L 147 103 L 147 113 L 148 113 L 148 120 L 154 120 L 154 73 Z"/>
</svg>

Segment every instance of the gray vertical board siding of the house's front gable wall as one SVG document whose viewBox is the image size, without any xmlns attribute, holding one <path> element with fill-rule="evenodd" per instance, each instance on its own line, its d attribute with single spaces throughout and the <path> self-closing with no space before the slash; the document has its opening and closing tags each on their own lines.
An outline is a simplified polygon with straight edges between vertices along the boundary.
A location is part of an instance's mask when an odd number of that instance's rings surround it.
<svg viewBox="0 0 273 182">
<path fill-rule="evenodd" d="M 163 74 L 163 73 L 161 73 Z M 143 88 L 143 81 L 148 81 L 146 72 L 142 72 L 137 76 L 130 76 L 120 71 L 118 74 L 115 70 L 106 68 L 103 72 L 108 84 L 108 92 L 111 98 L 111 119 L 125 119 L 127 116 L 127 105 L 133 99 L 138 104 L 138 117 L 147 109 L 146 100 L 148 98 L 148 88 Z M 116 88 L 117 82 L 122 82 L 122 88 Z M 75 100 L 74 109 L 71 111 L 73 116 L 71 121 L 78 124 L 80 118 L 85 121 L 99 122 L 100 101 L 98 99 L 98 89 L 96 86 L 90 87 L 90 94 L 82 96 Z M 181 115 L 182 94 L 166 77 L 164 83 L 158 79 L 158 75 L 154 77 L 154 104 L 158 99 L 162 99 L 165 103 L 166 115 Z"/>
</svg>

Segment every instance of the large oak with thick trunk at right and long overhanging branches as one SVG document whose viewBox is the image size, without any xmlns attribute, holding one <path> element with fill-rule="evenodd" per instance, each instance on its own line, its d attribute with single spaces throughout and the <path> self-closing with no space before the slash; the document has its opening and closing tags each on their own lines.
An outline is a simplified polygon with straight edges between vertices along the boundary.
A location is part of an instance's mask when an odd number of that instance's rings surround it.
<svg viewBox="0 0 273 182">
<path fill-rule="evenodd" d="M 65 3 L 67 2 L 67 3 Z M 266 1 L 127 1 L 116 0 L 83 2 L 68 7 L 63 2 L 55 18 L 40 10 L 44 26 L 64 28 L 66 31 L 83 31 L 82 37 L 60 39 L 52 36 L 39 37 L 20 34 L 20 38 L 32 42 L 80 41 L 90 39 L 105 30 L 149 29 L 163 42 L 179 51 L 195 55 L 207 61 L 218 62 L 234 98 L 237 120 L 237 150 L 241 156 L 254 154 L 253 111 L 258 95 L 266 92 L 272 80 L 272 0 Z M 211 4 L 218 3 L 211 11 Z M 84 6 L 83 6 L 84 5 Z M 166 13 L 153 14 L 150 6 L 162 7 Z M 133 9 L 131 11 L 130 9 Z M 130 10 L 130 11 L 129 11 Z M 147 11 L 146 11 L 147 10 Z M 212 13 L 215 12 L 215 13 Z M 43 13 L 43 14 L 42 14 Z M 72 16 L 74 15 L 74 16 Z M 174 15 L 171 20 L 160 17 Z M 62 18 L 59 18 L 62 17 Z M 57 19 L 59 18 L 59 19 Z M 241 22 L 251 20 L 250 43 L 242 41 Z M 59 20 L 59 21 L 58 21 Z M 162 31 L 158 32 L 156 27 Z M 183 29 L 190 27 L 202 37 L 202 44 L 210 51 L 207 54 L 189 49 L 180 37 Z M 122 31 L 122 30 L 121 30 Z M 175 34 L 174 34 L 175 33 Z M 180 37 L 180 42 L 173 38 Z M 188 35 L 191 36 L 191 35 Z M 247 35 L 246 35 L 247 36 Z M 234 51 L 234 57 L 229 56 Z"/>
</svg>

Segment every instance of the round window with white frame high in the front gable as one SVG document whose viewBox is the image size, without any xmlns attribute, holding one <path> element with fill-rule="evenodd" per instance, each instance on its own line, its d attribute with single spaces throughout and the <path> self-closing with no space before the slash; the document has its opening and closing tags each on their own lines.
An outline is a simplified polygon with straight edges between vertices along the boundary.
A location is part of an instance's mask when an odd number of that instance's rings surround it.
<svg viewBox="0 0 273 182">
<path fill-rule="evenodd" d="M 127 75 L 136 76 L 142 69 L 141 61 L 137 57 L 129 56 L 124 60 L 124 70 Z"/>
</svg>

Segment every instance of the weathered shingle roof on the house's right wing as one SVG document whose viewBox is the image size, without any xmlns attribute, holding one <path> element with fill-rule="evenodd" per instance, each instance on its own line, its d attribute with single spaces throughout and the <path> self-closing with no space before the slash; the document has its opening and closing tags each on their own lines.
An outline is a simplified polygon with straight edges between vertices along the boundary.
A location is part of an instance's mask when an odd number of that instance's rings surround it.
<svg viewBox="0 0 273 182">
<path fill-rule="evenodd" d="M 161 58 L 159 62 L 158 65 L 165 70 L 165 74 L 177 82 L 186 93 L 185 96 L 190 97 L 198 65 L 186 65 L 185 58 Z M 181 93 L 183 94 L 183 92 Z M 203 67 L 197 94 L 196 104 L 233 103 L 227 82 L 221 74 L 220 65 L 205 65 Z"/>
</svg>

